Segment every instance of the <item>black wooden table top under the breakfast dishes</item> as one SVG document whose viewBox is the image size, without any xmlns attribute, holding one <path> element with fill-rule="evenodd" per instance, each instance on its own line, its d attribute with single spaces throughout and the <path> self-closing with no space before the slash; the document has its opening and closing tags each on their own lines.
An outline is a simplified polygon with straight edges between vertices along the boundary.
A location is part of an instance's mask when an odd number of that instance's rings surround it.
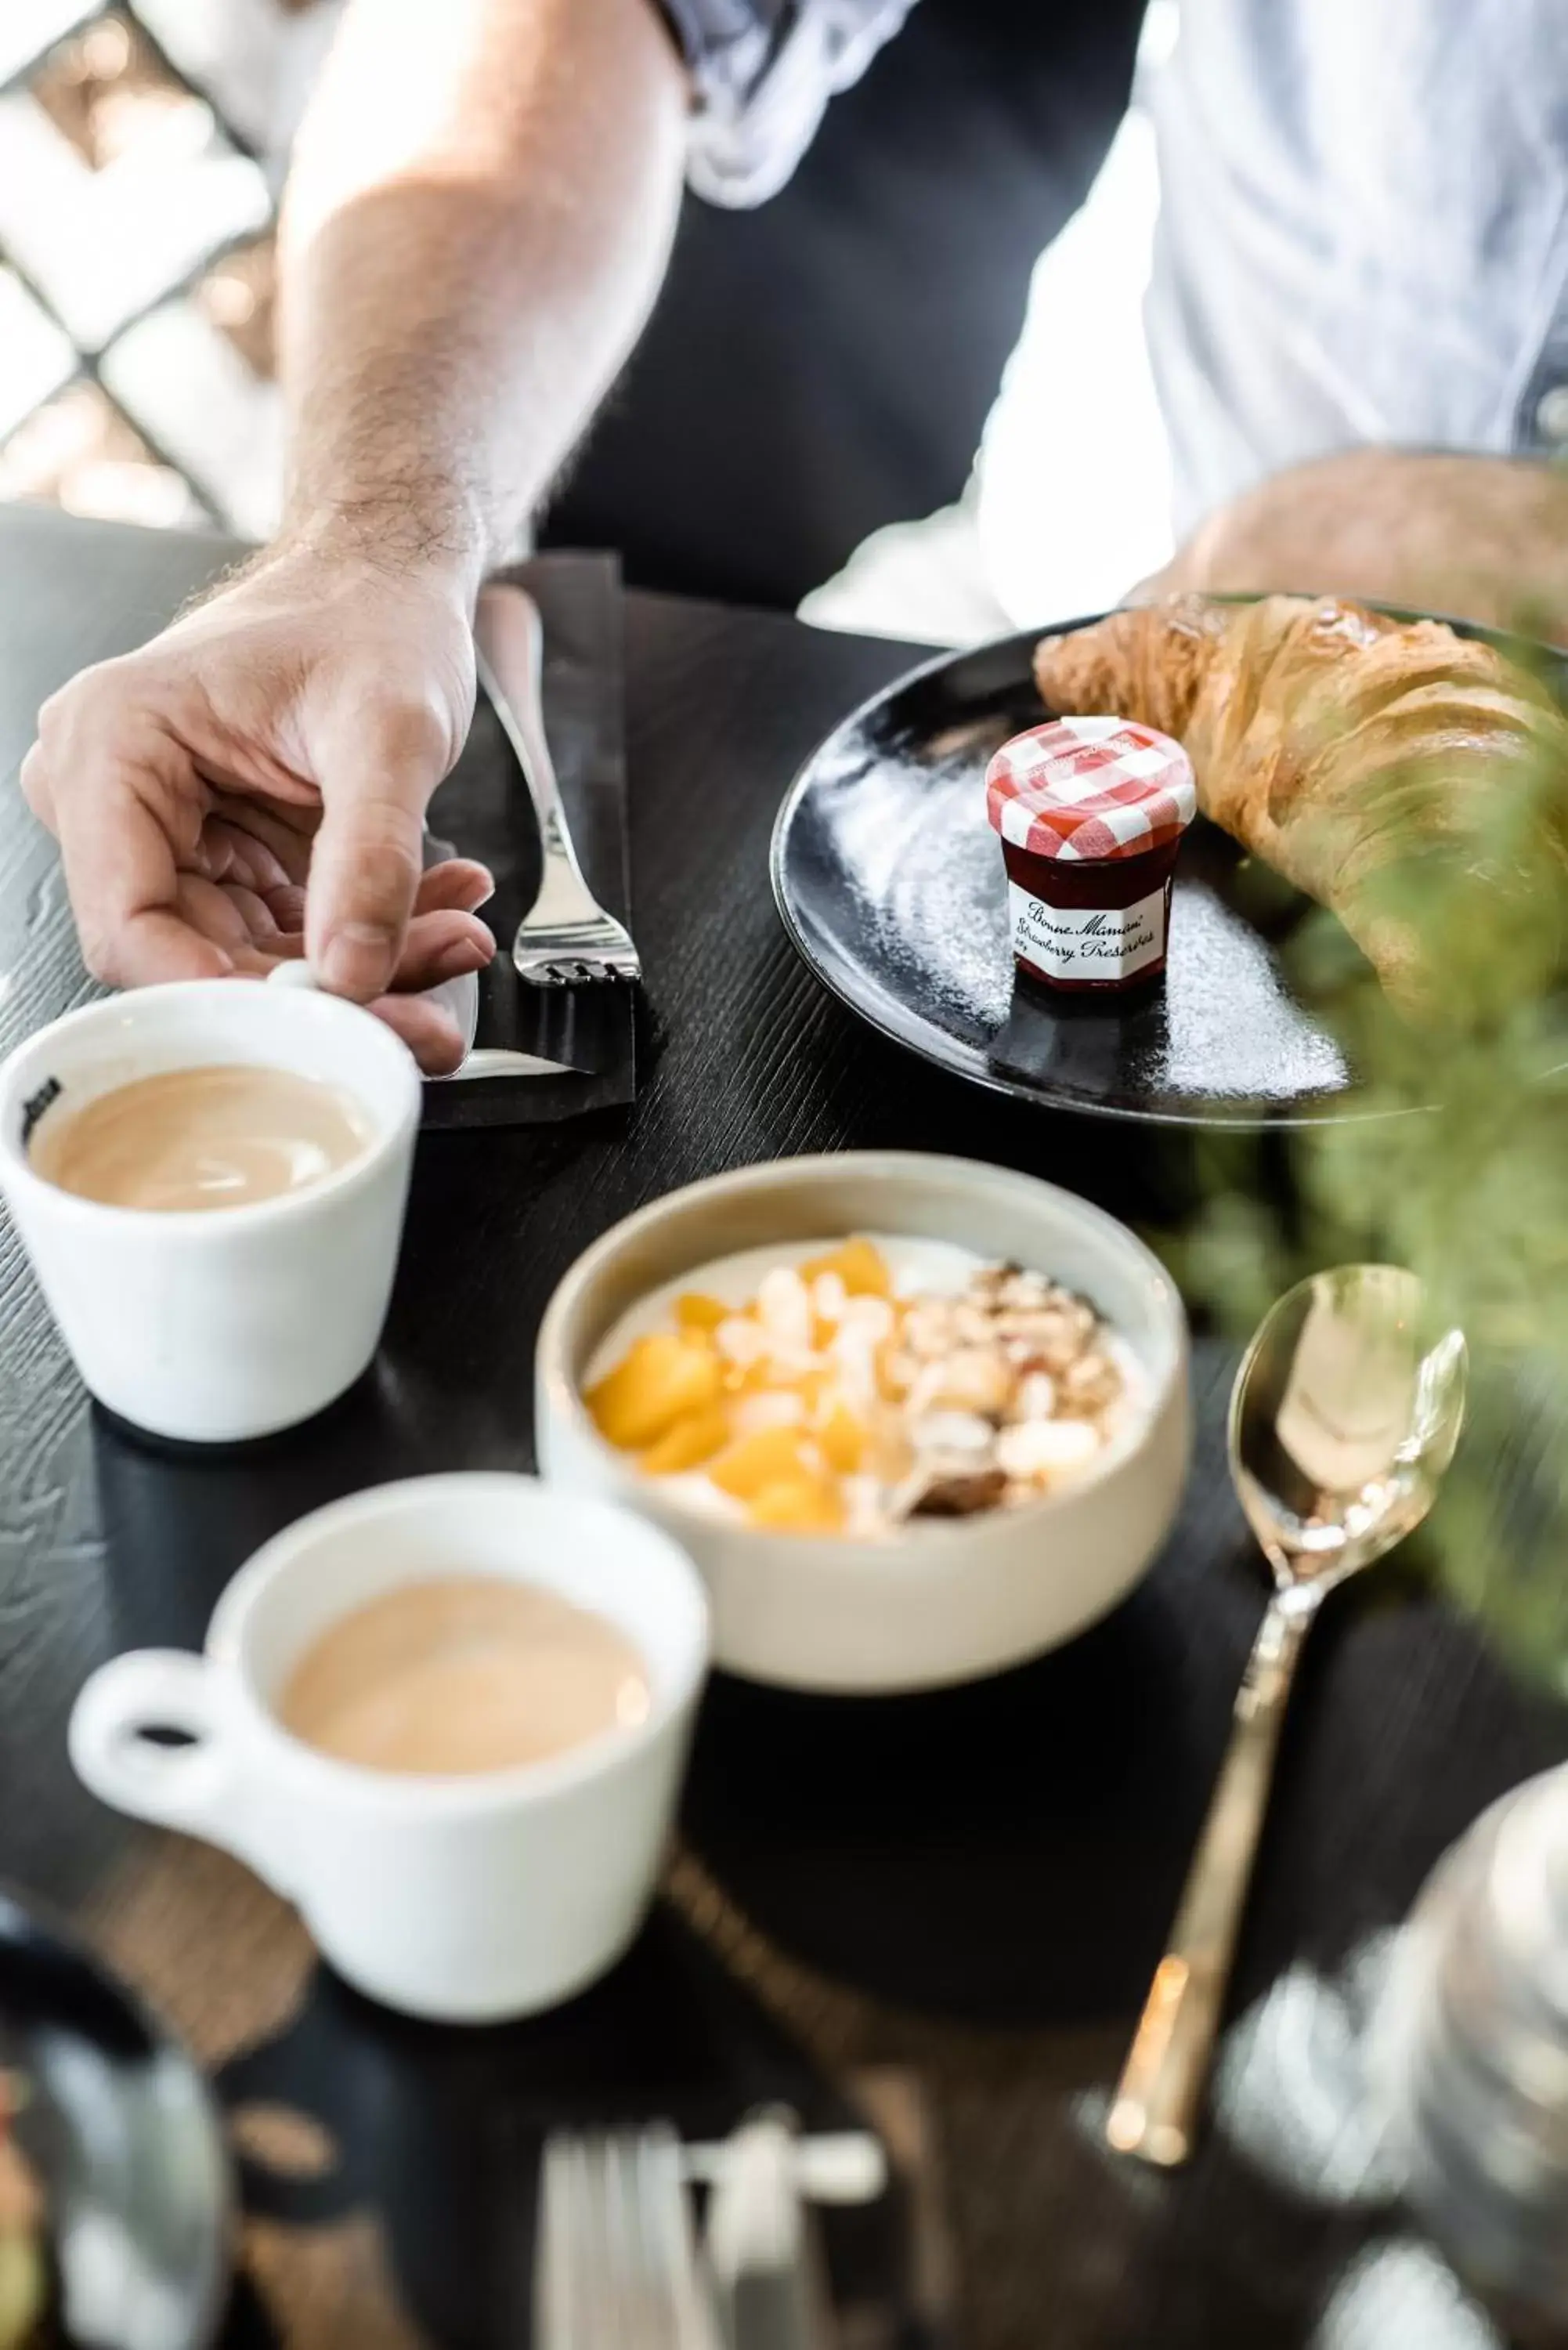
<svg viewBox="0 0 1568 2350">
<path fill-rule="evenodd" d="M 5 1046 L 87 985 L 14 783 L 33 710 L 150 634 L 221 559 L 0 510 Z M 289 1518 L 388 1476 L 531 1464 L 543 1302 L 639 1201 L 741 1161 L 898 1144 L 1048 1175 L 1157 1243 L 1180 1220 L 1185 1142 L 938 1079 L 863 1034 L 780 935 L 780 792 L 903 660 L 780 618 L 630 599 L 644 1095 L 595 1123 L 425 1137 L 383 1354 L 315 1426 L 228 1462 L 115 1434 L 0 1231 L 0 1873 L 82 1918 L 219 2075 L 252 2211 L 233 2341 L 520 2343 L 541 2122 L 663 2108 L 722 2127 L 780 2092 L 820 2113 L 870 2101 L 907 2162 L 900 2232 L 846 2242 L 842 2270 L 875 2298 L 870 2270 L 910 2254 L 924 2319 L 877 2329 L 867 2305 L 858 2343 L 1495 2341 L 1380 2188 L 1356 2028 L 1436 1854 L 1568 1753 L 1568 1718 L 1514 1692 L 1422 1591 L 1347 1593 L 1307 1664 L 1199 2160 L 1164 2178 L 1098 2146 L 1260 1610 L 1222 1476 L 1218 1342 L 1197 1351 L 1182 1523 L 1088 1638 L 922 1699 L 712 1685 L 668 1899 L 625 1967 L 557 2019 L 440 2033 L 383 2016 L 315 1969 L 242 1871 L 132 1831 L 71 1779 L 82 1676 L 129 1645 L 197 1645 L 228 1574 Z"/>
</svg>

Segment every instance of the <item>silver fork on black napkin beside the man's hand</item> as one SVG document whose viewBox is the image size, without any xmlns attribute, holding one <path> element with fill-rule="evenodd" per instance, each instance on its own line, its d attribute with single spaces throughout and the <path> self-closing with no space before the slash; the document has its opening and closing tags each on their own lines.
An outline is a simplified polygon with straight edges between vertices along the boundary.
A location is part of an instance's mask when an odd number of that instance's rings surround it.
<svg viewBox="0 0 1568 2350">
<path fill-rule="evenodd" d="M 534 813 L 543 879 L 538 898 L 517 926 L 512 961 L 534 987 L 576 987 L 592 980 L 639 980 L 642 961 L 625 924 L 607 914 L 583 879 L 571 846 L 555 761 L 543 724 L 545 630 L 538 604 L 524 588 L 496 580 L 480 590 L 475 611 L 475 658 L 480 684 L 496 705 L 505 738 L 517 752 Z"/>
</svg>

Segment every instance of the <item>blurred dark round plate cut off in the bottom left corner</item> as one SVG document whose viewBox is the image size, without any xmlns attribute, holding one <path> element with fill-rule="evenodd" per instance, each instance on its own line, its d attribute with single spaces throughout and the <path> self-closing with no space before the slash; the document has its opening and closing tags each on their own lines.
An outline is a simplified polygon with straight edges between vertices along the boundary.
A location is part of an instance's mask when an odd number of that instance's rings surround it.
<svg viewBox="0 0 1568 2350">
<path fill-rule="evenodd" d="M 7 1894 L 0 2068 L 26 2082 L 16 2141 L 47 2202 L 59 2336 L 202 2350 L 230 2268 L 228 2157 L 207 2084 L 113 1974 Z"/>
</svg>

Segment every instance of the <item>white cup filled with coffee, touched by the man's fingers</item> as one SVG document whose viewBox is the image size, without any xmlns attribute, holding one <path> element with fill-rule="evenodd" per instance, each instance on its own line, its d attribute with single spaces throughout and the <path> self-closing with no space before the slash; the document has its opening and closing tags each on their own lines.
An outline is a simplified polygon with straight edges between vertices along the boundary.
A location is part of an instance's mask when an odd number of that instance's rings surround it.
<svg viewBox="0 0 1568 2350">
<path fill-rule="evenodd" d="M 87 1386 L 158 1436 L 320 1412 L 381 1337 L 418 1072 L 336 996 L 183 980 L 0 1065 L 0 1189 Z"/>
</svg>

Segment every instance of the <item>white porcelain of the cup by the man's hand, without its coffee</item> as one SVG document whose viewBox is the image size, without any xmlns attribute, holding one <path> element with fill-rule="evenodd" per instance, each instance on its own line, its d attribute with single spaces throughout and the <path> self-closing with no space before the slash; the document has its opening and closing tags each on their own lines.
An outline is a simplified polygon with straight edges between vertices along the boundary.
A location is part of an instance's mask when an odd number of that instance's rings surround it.
<svg viewBox="0 0 1568 2350">
<path fill-rule="evenodd" d="M 45 1107 L 165 1069 L 254 1062 L 353 1093 L 374 1135 L 322 1182 L 244 1208 L 110 1208 L 45 1182 Z M 233 1443 L 320 1412 L 386 1321 L 418 1128 L 407 1046 L 339 996 L 181 980 L 66 1013 L 0 1065 L 0 1189 L 87 1386 L 158 1436 Z"/>
</svg>

